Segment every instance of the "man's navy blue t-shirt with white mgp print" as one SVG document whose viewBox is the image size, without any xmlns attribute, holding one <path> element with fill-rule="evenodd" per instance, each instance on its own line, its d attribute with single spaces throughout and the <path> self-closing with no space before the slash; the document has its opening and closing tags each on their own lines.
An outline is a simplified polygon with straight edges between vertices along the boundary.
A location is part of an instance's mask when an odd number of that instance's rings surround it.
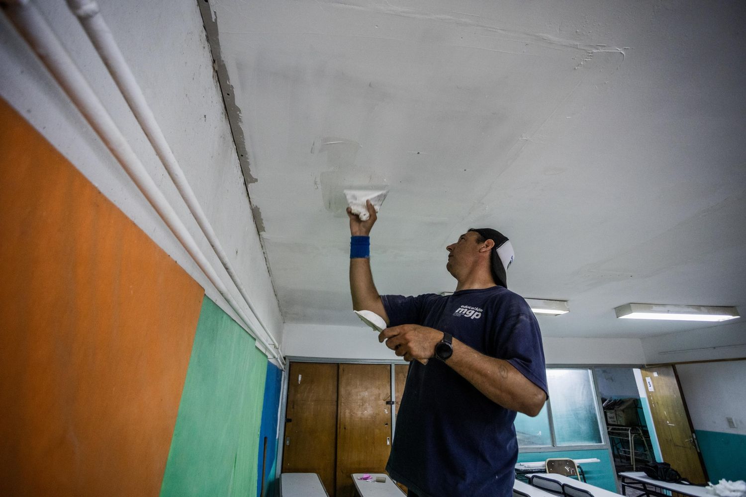
<svg viewBox="0 0 746 497">
<path fill-rule="evenodd" d="M 542 336 L 528 304 L 507 288 L 442 297 L 383 295 L 390 326 L 419 324 L 451 333 L 507 360 L 547 391 Z M 430 497 L 510 497 L 518 442 L 515 411 L 495 404 L 437 359 L 410 363 L 386 471 Z"/>
</svg>

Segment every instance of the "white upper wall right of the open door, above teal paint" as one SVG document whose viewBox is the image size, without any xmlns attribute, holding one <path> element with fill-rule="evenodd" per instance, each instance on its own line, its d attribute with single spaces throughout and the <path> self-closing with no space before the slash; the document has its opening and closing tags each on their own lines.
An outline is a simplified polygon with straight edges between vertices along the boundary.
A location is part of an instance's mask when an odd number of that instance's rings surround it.
<svg viewBox="0 0 746 497">
<path fill-rule="evenodd" d="M 746 361 L 679 364 L 676 370 L 695 430 L 746 435 Z"/>
</svg>

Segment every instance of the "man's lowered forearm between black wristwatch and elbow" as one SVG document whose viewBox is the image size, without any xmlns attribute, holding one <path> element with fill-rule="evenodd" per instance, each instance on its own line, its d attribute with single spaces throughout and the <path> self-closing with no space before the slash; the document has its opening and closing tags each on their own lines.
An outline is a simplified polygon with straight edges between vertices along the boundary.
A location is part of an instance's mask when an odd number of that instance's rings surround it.
<svg viewBox="0 0 746 497">
<path fill-rule="evenodd" d="M 454 353 L 446 364 L 488 399 L 504 408 L 536 416 L 546 401 L 544 390 L 508 361 L 489 357 L 454 338 Z"/>
</svg>

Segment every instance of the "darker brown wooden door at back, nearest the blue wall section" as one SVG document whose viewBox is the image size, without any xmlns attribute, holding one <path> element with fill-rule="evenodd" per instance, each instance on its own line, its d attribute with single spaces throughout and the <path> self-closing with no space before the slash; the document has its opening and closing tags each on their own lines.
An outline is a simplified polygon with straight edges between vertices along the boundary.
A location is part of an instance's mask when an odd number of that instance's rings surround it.
<svg viewBox="0 0 746 497">
<path fill-rule="evenodd" d="M 283 472 L 317 473 L 335 488 L 337 365 L 290 364 Z"/>
</svg>

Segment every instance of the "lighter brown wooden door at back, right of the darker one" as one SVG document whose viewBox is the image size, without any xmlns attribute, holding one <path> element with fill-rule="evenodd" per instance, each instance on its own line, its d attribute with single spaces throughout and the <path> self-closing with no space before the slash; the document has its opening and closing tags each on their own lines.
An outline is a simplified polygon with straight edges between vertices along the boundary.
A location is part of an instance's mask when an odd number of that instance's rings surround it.
<svg viewBox="0 0 746 497">
<path fill-rule="evenodd" d="M 355 495 L 352 473 L 385 471 L 392 436 L 389 400 L 389 364 L 339 364 L 336 497 Z"/>
</svg>

